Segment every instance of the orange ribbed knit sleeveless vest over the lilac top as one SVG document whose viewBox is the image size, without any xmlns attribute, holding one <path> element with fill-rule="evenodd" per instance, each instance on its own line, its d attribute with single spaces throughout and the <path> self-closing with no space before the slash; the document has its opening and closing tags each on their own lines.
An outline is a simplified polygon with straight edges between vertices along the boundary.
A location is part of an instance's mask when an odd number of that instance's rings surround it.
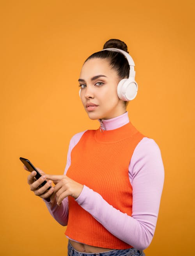
<svg viewBox="0 0 195 256">
<path fill-rule="evenodd" d="M 145 137 L 129 122 L 115 130 L 87 130 L 71 151 L 67 176 L 99 193 L 122 213 L 132 214 L 132 187 L 128 167 L 138 142 Z M 74 200 L 69 200 L 65 234 L 96 247 L 128 249 L 132 246 L 113 236 Z"/>
</svg>

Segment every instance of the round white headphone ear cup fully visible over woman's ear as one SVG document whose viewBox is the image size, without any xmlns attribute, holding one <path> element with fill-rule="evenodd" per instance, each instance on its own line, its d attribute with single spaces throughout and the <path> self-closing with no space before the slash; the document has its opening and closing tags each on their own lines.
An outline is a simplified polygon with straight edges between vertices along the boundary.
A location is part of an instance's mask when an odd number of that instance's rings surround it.
<svg viewBox="0 0 195 256">
<path fill-rule="evenodd" d="M 117 86 L 119 99 L 131 101 L 137 95 L 138 85 L 134 79 L 122 79 Z"/>
</svg>

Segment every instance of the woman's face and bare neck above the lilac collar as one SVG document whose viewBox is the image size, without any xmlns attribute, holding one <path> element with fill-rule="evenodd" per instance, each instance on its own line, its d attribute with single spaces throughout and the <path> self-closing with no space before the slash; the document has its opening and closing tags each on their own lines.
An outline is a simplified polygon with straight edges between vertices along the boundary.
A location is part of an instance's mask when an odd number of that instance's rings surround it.
<svg viewBox="0 0 195 256">
<path fill-rule="evenodd" d="M 126 112 L 123 101 L 117 95 L 120 78 L 106 59 L 86 61 L 78 81 L 81 85 L 81 100 L 90 119 L 110 119 Z M 97 106 L 90 107 L 87 104 Z"/>
</svg>

